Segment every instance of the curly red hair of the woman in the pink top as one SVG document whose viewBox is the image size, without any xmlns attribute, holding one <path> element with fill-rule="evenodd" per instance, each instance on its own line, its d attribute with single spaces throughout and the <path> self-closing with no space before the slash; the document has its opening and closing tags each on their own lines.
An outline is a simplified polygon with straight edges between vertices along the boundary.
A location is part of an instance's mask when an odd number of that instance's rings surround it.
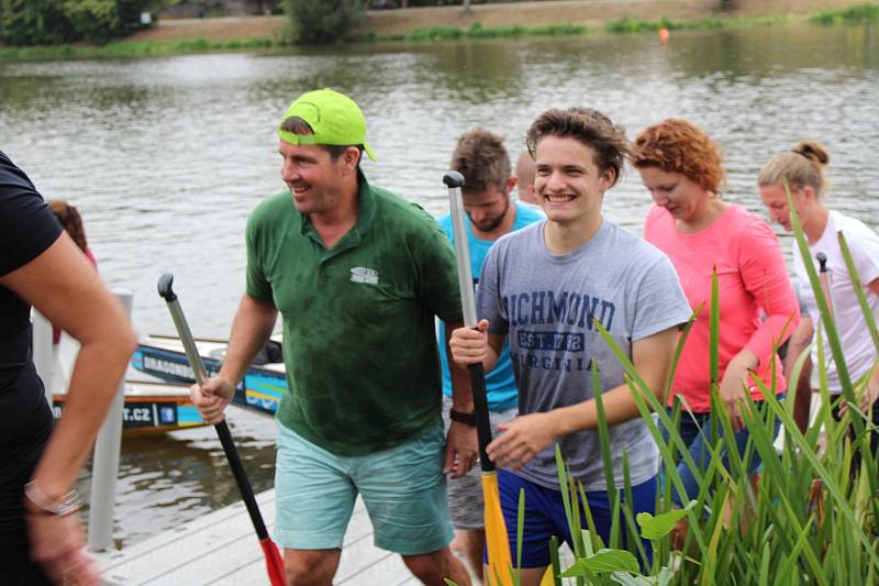
<svg viewBox="0 0 879 586">
<path fill-rule="evenodd" d="M 702 189 L 719 194 L 724 170 L 717 143 L 687 120 L 669 118 L 647 126 L 635 137 L 632 150 L 635 168 L 660 167 L 686 175 Z"/>
</svg>

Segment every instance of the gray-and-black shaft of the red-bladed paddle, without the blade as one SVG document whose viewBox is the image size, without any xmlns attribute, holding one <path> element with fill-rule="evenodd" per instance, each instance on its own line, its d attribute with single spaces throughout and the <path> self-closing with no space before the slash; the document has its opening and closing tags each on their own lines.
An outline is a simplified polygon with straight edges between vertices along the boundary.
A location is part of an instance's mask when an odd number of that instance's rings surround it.
<svg viewBox="0 0 879 586">
<path fill-rule="evenodd" d="M 174 275 L 165 273 L 158 279 L 158 294 L 168 305 L 168 311 L 171 313 L 174 325 L 177 328 L 177 334 L 180 336 L 183 350 L 186 350 L 186 355 L 187 358 L 189 358 L 189 365 L 192 367 L 196 382 L 199 385 L 203 385 L 208 382 L 208 371 L 204 368 L 204 363 L 201 361 L 201 356 L 198 353 L 196 341 L 192 339 L 192 332 L 189 330 L 189 323 L 187 323 L 183 310 L 180 307 L 180 302 L 177 300 L 177 295 L 175 295 L 171 288 L 173 285 Z M 247 507 L 247 513 L 251 516 L 251 522 L 254 526 L 256 535 L 259 538 L 259 541 L 263 541 L 268 538 L 266 523 L 263 521 L 263 515 L 259 512 L 256 497 L 254 497 L 254 489 L 251 487 L 251 482 L 247 479 L 247 473 L 241 462 L 241 456 L 238 456 L 238 451 L 235 447 L 232 433 L 229 431 L 229 425 L 226 425 L 225 421 L 221 421 L 220 423 L 215 423 L 213 428 L 220 436 L 220 443 L 223 445 L 223 452 L 226 454 L 229 467 L 232 469 L 235 484 L 238 485 L 238 493 L 241 493 L 241 498 L 244 500 L 245 507 Z"/>
</svg>

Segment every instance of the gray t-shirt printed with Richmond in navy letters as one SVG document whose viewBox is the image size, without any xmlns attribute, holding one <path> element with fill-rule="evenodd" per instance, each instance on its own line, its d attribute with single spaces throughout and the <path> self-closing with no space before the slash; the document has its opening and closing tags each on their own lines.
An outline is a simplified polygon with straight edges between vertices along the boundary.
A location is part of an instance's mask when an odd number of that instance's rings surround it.
<svg viewBox="0 0 879 586">
<path fill-rule="evenodd" d="M 556 256 L 544 244 L 545 225 L 500 239 L 479 279 L 477 313 L 489 320 L 491 333 L 509 340 L 522 414 L 593 398 L 593 367 L 603 391 L 624 383 L 623 366 L 593 320 L 631 358 L 633 341 L 683 323 L 691 313 L 671 263 L 642 239 L 605 220 L 589 242 Z M 624 486 L 624 449 L 633 486 L 656 475 L 658 450 L 639 418 L 609 431 L 617 488 Z M 558 443 L 586 490 L 607 489 L 597 430 Z M 516 474 L 558 489 L 555 446 Z"/>
</svg>

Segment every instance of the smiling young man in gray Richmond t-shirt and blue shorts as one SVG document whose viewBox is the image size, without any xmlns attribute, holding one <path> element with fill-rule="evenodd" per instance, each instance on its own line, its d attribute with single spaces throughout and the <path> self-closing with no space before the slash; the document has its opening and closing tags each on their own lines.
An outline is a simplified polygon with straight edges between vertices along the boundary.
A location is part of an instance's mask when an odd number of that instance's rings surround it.
<svg viewBox="0 0 879 586">
<path fill-rule="evenodd" d="M 570 541 L 556 443 L 587 493 L 594 520 L 590 529 L 605 543 L 610 539 L 612 504 L 597 431 L 594 368 L 610 425 L 614 484 L 624 486 L 625 451 L 632 484 L 626 506 L 635 515 L 654 511 L 658 452 L 596 322 L 658 395 L 678 325 L 691 311 L 668 258 L 601 215 L 604 191 L 620 177 L 627 144 L 623 130 L 594 110 L 548 110 L 537 118 L 527 146 L 547 220 L 494 244 L 479 279 L 478 331 L 456 330 L 450 341 L 456 363 L 482 362 L 490 371 L 509 338 L 521 416 L 500 425 L 503 433 L 488 454 L 503 468 L 498 482 L 512 552 L 519 491 L 525 490 L 523 586 L 539 583 L 549 563 L 550 535 Z M 645 549 L 649 552 L 649 542 Z"/>
</svg>

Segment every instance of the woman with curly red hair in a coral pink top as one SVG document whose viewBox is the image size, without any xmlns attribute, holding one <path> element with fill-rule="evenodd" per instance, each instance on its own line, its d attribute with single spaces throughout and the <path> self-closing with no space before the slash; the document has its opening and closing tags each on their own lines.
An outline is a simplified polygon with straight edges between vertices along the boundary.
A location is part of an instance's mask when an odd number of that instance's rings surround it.
<svg viewBox="0 0 879 586">
<path fill-rule="evenodd" d="M 776 350 L 797 327 L 799 306 L 775 232 L 756 214 L 721 199 L 720 148 L 702 129 L 674 119 L 648 126 L 635 139 L 632 163 L 655 202 L 644 237 L 671 259 L 690 307 L 702 307 L 683 345 L 668 400 L 669 406 L 676 400 L 682 403 L 678 432 L 697 466 L 705 469 L 711 442 L 723 436 L 722 429 L 712 429 L 710 417 L 712 272 L 716 269 L 720 285 L 720 397 L 739 454 L 748 438 L 741 411 L 744 394 L 749 392 L 759 408 L 764 397 L 757 380 L 775 384 L 779 394 L 787 388 Z M 724 464 L 728 469 L 725 453 Z M 756 474 L 759 465 L 754 454 L 748 473 Z M 680 463 L 678 474 L 687 490 L 674 495 L 680 506 L 696 498 L 700 487 L 686 463 Z"/>
</svg>

